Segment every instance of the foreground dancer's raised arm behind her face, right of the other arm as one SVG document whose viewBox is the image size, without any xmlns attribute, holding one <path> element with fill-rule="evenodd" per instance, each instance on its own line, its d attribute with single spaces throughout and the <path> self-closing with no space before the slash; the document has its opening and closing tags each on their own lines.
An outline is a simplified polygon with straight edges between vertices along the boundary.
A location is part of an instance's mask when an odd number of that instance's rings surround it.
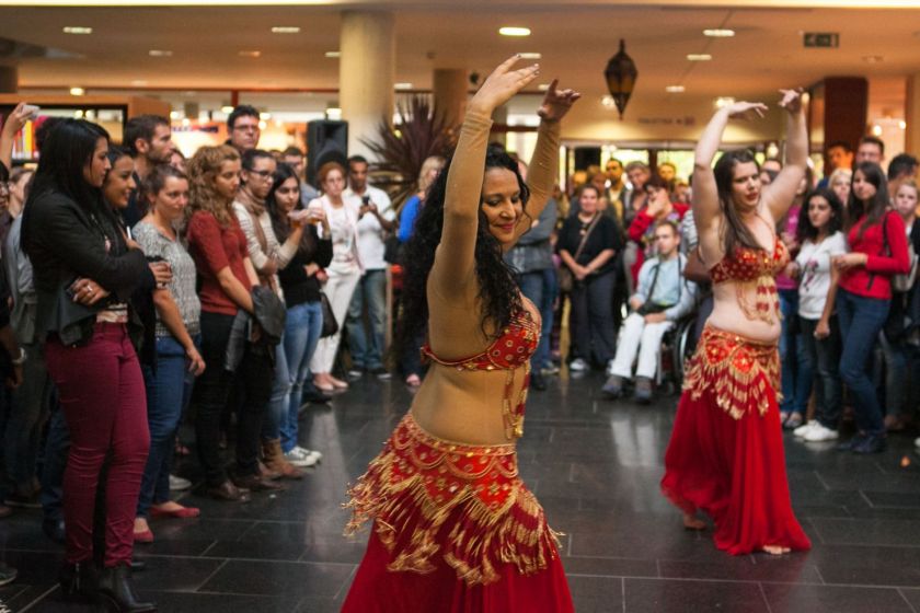
<svg viewBox="0 0 920 613">
<path fill-rule="evenodd" d="M 527 203 L 527 215 L 518 220 L 516 238 L 530 230 L 532 221 L 540 217 L 552 198 L 553 185 L 559 178 L 560 122 L 575 101 L 582 97 L 582 94 L 574 90 L 557 90 L 557 84 L 559 79 L 550 83 L 543 104 L 537 112 L 540 115 L 540 127 L 537 130 L 537 147 L 533 149 L 527 176 L 530 200 Z"/>
</svg>

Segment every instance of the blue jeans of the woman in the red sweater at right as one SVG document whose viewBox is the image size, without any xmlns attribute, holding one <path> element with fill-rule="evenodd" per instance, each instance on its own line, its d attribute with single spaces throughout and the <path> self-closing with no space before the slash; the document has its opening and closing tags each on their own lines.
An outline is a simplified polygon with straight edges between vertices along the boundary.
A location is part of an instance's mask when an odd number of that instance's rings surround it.
<svg viewBox="0 0 920 613">
<path fill-rule="evenodd" d="M 853 394 L 856 427 L 865 435 L 884 435 L 882 406 L 870 378 L 870 357 L 888 317 L 889 301 L 837 291 L 837 319 L 843 350 L 840 377 Z"/>
</svg>

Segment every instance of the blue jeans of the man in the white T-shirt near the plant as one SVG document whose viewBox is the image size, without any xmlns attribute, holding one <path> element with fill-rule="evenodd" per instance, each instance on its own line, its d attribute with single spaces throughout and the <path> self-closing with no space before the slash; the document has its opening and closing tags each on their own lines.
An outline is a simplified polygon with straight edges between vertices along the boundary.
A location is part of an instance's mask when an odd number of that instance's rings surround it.
<svg viewBox="0 0 920 613">
<path fill-rule="evenodd" d="M 367 320 L 370 334 L 365 327 L 364 310 L 367 305 Z M 348 350 L 352 352 L 353 368 L 370 370 L 383 366 L 383 331 L 387 326 L 387 270 L 368 270 L 360 280 L 352 302 L 345 328 L 348 331 Z"/>
</svg>

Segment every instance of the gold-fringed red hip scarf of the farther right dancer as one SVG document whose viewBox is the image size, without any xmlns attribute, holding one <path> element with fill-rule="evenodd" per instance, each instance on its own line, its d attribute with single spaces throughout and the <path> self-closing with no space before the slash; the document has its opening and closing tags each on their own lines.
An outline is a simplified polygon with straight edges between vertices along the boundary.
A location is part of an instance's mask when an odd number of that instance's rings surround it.
<svg viewBox="0 0 920 613">
<path fill-rule="evenodd" d="M 710 391 L 716 405 L 735 419 L 751 409 L 763 416 L 770 406 L 768 385 L 779 403 L 782 394 L 775 344 L 757 343 L 709 325 L 703 329 L 683 379 L 683 390 L 694 401 Z"/>
</svg>

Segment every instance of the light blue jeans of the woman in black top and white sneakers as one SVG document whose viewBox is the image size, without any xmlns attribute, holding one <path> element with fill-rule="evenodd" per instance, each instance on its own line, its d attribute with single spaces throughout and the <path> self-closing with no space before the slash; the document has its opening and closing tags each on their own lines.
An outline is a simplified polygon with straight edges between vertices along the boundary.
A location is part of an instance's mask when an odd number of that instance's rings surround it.
<svg viewBox="0 0 920 613">
<path fill-rule="evenodd" d="M 281 350 L 276 363 L 277 372 L 284 371 L 284 379 L 280 375 L 275 378 L 268 409 L 272 419 L 277 419 L 277 436 L 280 436 L 281 451 L 285 453 L 297 447 L 297 415 L 303 385 L 310 377 L 310 358 L 317 350 L 322 331 L 321 302 L 303 302 L 288 309 L 285 335 L 278 345 Z"/>
</svg>

